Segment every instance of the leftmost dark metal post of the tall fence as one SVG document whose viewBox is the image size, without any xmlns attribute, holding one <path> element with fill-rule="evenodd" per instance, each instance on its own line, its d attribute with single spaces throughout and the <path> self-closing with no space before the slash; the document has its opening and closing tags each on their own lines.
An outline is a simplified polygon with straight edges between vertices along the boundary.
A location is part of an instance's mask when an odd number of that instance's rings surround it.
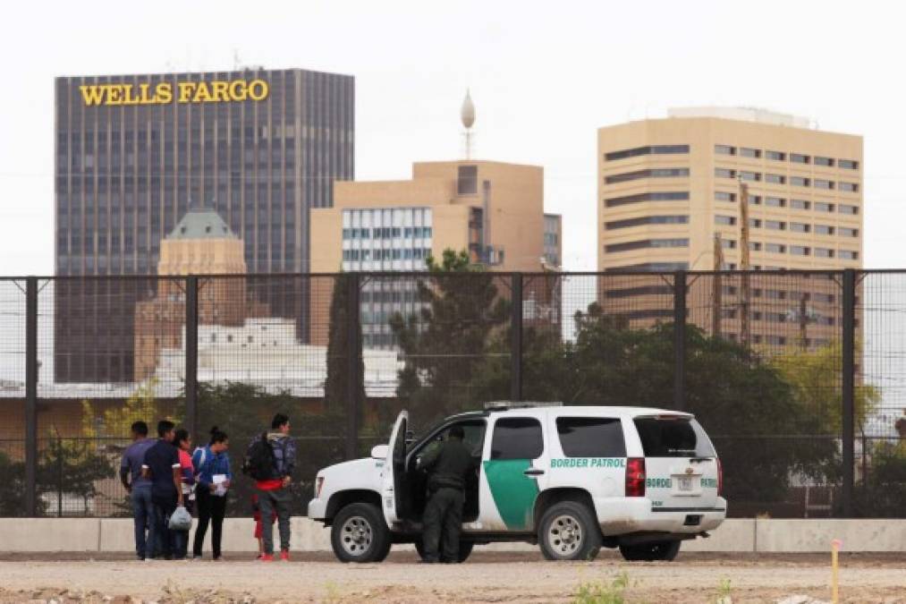
<svg viewBox="0 0 906 604">
<path fill-rule="evenodd" d="M 38 515 L 38 278 L 25 279 L 25 515 Z"/>
</svg>

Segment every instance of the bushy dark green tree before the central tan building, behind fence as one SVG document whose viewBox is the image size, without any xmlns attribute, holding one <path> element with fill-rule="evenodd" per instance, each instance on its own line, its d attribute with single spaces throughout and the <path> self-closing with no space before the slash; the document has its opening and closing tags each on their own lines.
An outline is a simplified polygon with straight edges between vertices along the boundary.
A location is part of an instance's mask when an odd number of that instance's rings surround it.
<svg viewBox="0 0 906 604">
<path fill-rule="evenodd" d="M 472 264 L 466 251 L 446 249 L 439 263 L 429 257 L 426 264 L 429 276 L 419 278 L 419 313 L 390 319 L 405 357 L 397 394 L 421 427 L 475 408 L 475 376 L 490 357 L 508 356 L 492 346 L 509 319 L 498 277 Z"/>
</svg>

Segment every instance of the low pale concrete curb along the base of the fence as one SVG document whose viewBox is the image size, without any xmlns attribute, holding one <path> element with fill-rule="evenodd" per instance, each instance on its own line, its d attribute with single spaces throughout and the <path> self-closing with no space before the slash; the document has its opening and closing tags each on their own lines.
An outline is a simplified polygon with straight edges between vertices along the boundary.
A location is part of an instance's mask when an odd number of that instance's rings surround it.
<svg viewBox="0 0 906 604">
<path fill-rule="evenodd" d="M 307 518 L 292 521 L 294 551 L 331 550 L 330 530 Z M 255 522 L 228 518 L 223 549 L 257 549 Z M 208 533 L 209 534 L 209 533 Z M 906 520 L 761 520 L 725 521 L 708 539 L 683 543 L 684 551 L 802 553 L 829 551 L 831 540 L 843 540 L 843 551 L 906 552 Z M 207 537 L 206 552 L 210 551 Z M 404 546 L 398 546 L 404 547 Z M 133 550 L 132 521 L 125 518 L 0 518 L 0 551 L 51 553 L 128 552 Z M 407 549 L 409 549 L 407 547 Z M 526 551 L 525 543 L 495 543 L 483 550 Z"/>
</svg>

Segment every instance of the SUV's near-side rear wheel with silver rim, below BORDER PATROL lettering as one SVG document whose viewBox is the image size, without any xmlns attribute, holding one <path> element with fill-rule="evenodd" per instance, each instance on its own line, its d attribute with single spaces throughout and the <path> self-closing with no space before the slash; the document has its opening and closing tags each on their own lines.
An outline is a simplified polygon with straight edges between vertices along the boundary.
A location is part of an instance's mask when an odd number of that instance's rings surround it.
<svg viewBox="0 0 906 604">
<path fill-rule="evenodd" d="M 601 541 L 593 512 L 580 502 L 554 503 L 538 526 L 538 545 L 547 560 L 594 560 Z"/>
</svg>

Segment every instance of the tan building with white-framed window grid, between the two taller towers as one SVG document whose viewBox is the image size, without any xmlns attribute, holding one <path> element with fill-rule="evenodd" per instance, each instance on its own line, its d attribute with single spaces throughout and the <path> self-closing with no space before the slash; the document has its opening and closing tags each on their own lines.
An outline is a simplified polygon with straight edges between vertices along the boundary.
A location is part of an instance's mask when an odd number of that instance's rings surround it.
<svg viewBox="0 0 906 604">
<path fill-rule="evenodd" d="M 312 270 L 421 271 L 429 255 L 465 249 L 492 271 L 541 272 L 562 256 L 560 220 L 544 200 L 544 169 L 499 161 L 419 162 L 411 180 L 338 181 L 333 208 L 312 210 Z M 362 292 L 365 346 L 391 346 L 388 318 L 417 304 L 414 283 L 384 285 Z M 314 289 L 319 343 L 330 294 Z"/>
</svg>

